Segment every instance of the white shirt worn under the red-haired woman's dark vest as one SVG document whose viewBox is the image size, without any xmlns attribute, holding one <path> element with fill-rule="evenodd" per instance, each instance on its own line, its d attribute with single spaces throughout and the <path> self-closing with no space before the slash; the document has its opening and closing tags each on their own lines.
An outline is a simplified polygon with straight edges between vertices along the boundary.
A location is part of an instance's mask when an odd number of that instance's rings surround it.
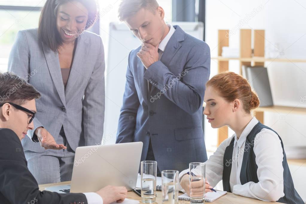
<svg viewBox="0 0 306 204">
<path fill-rule="evenodd" d="M 245 140 L 252 131 L 258 120 L 254 117 L 245 127 L 239 139 L 236 134 L 224 140 L 216 152 L 205 162 L 206 178 L 211 186 L 216 186 L 222 180 L 223 157 L 227 146 L 230 145 L 233 137 L 233 159 L 230 174 L 230 190 L 237 195 L 249 198 L 255 198 L 263 201 L 277 201 L 283 197 L 283 150 L 281 140 L 278 135 L 270 129 L 263 128 L 255 137 L 254 153 L 256 155 L 257 177 L 259 182 L 248 182 L 241 185 L 240 171 L 244 154 Z M 179 175 L 181 178 L 189 172 L 189 169 L 182 171 Z"/>
</svg>

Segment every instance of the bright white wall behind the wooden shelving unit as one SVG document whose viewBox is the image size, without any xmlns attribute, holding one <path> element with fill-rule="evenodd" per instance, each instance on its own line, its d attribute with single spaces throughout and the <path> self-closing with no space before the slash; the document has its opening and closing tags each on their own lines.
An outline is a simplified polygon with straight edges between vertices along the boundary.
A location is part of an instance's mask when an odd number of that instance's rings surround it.
<svg viewBox="0 0 306 204">
<path fill-rule="evenodd" d="M 211 56 L 218 55 L 218 29 L 264 29 L 266 56 L 276 49 L 286 58 L 306 59 L 306 2 L 301 0 L 207 0 L 205 39 Z M 257 12 L 254 12 L 257 9 Z M 254 15 L 255 14 L 255 15 Z M 251 15 L 251 16 L 250 16 Z M 239 26 L 239 21 L 249 16 L 249 21 Z M 238 26 L 237 26 L 238 25 Z M 239 48 L 239 30 L 230 35 L 230 47 Z M 277 48 L 275 48 L 278 47 Z M 268 62 L 268 74 L 275 105 L 306 107 L 306 63 Z M 230 62 L 230 71 L 238 72 L 239 63 Z M 211 61 L 211 77 L 217 73 L 217 63 Z M 282 117 L 280 117 L 282 116 Z M 285 116 L 285 117 L 283 117 Z M 306 115 L 265 112 L 265 124 L 277 131 L 285 146 L 306 146 Z M 206 125 L 206 137 L 215 140 L 215 130 Z M 232 132 L 230 132 L 232 133 Z M 208 138 L 206 138 L 209 140 Z"/>
</svg>

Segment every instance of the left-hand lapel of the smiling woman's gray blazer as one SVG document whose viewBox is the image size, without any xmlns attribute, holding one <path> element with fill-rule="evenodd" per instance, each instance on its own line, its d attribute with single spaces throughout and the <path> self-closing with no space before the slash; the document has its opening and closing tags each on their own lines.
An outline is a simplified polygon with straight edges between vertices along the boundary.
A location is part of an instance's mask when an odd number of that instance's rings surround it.
<svg viewBox="0 0 306 204">
<path fill-rule="evenodd" d="M 59 64 L 58 53 L 53 52 L 47 45 L 43 44 L 43 52 L 46 58 L 47 66 L 51 75 L 51 78 L 54 82 L 54 86 L 58 92 L 58 95 L 64 105 L 65 101 L 65 88 L 62 79 L 61 67 Z"/>
</svg>

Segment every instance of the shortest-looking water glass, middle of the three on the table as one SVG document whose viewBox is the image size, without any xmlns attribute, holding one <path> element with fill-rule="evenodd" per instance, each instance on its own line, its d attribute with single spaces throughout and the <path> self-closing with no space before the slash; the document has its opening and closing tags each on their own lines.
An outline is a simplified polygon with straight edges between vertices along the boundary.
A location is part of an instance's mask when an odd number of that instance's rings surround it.
<svg viewBox="0 0 306 204">
<path fill-rule="evenodd" d="M 162 171 L 162 203 L 178 203 L 178 173 L 176 170 Z"/>
</svg>

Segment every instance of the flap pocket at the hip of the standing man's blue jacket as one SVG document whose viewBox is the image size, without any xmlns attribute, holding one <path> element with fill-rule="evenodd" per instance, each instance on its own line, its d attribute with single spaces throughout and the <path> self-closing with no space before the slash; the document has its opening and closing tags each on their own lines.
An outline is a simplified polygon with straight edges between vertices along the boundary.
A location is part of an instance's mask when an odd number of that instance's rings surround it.
<svg viewBox="0 0 306 204">
<path fill-rule="evenodd" d="M 176 140 L 191 140 L 196 138 L 204 138 L 201 126 L 174 129 Z"/>
</svg>

